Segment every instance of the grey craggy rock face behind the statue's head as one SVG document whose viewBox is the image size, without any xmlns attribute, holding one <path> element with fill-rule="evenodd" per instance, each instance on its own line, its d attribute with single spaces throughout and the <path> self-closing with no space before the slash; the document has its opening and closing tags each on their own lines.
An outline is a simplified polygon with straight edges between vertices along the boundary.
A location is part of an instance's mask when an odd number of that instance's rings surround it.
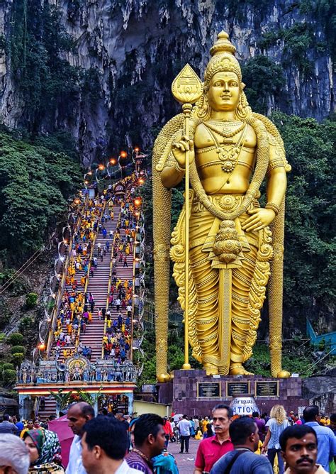
<svg viewBox="0 0 336 474">
<path fill-rule="evenodd" d="M 19 0 L 0 5 L 0 34 L 8 40 Z M 332 58 L 327 14 L 289 0 L 49 0 L 60 12 L 74 48 L 62 53 L 70 65 L 92 72 L 94 100 L 82 94 L 40 114 L 39 132 L 67 130 L 77 139 L 84 164 L 124 145 L 150 148 L 157 130 L 179 111 L 170 92 L 186 62 L 203 77 L 208 51 L 228 31 L 237 57 L 266 55 L 284 70 L 268 111 L 313 116 L 332 112 Z M 318 2 L 313 2 L 318 4 Z M 43 2 L 28 0 L 43 9 Z M 243 78 L 244 79 L 244 78 Z M 247 87 L 249 84 L 247 84 Z M 29 113 L 13 80 L 8 48 L 0 58 L 1 116 L 8 126 L 29 128 Z M 66 112 L 65 112 L 66 111 Z"/>
</svg>

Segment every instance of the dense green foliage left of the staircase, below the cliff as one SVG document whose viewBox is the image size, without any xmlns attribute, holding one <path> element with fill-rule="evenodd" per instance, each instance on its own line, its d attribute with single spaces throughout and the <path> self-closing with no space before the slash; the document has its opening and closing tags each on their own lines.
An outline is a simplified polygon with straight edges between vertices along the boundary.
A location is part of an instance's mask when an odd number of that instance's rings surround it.
<svg viewBox="0 0 336 474">
<path fill-rule="evenodd" d="M 0 250 L 16 260 L 43 245 L 79 186 L 77 160 L 60 143 L 57 151 L 41 141 L 45 146 L 0 131 Z"/>
</svg>

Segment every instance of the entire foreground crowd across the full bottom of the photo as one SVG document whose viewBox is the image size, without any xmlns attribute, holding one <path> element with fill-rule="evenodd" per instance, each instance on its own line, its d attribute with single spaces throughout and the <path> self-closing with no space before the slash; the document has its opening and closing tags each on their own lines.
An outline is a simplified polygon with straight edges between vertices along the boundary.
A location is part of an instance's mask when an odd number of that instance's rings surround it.
<svg viewBox="0 0 336 474">
<path fill-rule="evenodd" d="M 4 415 L 0 423 L 0 472 L 178 474 L 174 456 L 167 451 L 177 429 L 181 452 L 184 448 L 189 451 L 191 436 L 198 439 L 198 432 L 203 434 L 194 474 L 273 474 L 276 456 L 276 472 L 280 474 L 335 473 L 336 414 L 324 425 L 316 406 L 303 410 L 301 424 L 295 415 L 287 417 L 281 405 L 274 405 L 270 416 L 264 418 L 258 412 L 252 417 L 234 417 L 225 404 L 216 405 L 211 417 L 180 418 L 177 423 L 157 414 L 132 419 L 106 408 L 95 417 L 93 407 L 86 402 L 71 404 L 67 421 L 74 439 L 65 470 L 61 443 L 47 424 L 35 419 L 28 420 L 25 427 Z"/>
</svg>

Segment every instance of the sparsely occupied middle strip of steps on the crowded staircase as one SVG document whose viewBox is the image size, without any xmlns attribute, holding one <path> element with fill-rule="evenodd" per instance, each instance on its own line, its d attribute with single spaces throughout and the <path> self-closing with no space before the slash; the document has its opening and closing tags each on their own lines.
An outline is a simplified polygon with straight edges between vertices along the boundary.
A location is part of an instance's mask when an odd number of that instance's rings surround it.
<svg viewBox="0 0 336 474">
<path fill-rule="evenodd" d="M 116 231 L 118 224 L 118 215 L 120 208 L 113 206 L 114 219 L 107 220 L 104 226 L 107 231 L 106 238 L 103 238 L 103 233 L 99 233 L 96 237 L 96 244 L 94 248 L 94 255 L 98 258 L 98 267 L 94 272 L 94 277 L 90 277 L 89 285 L 87 287 L 86 294 L 92 294 L 94 297 L 94 312 L 92 314 L 91 324 L 86 324 L 86 331 L 81 331 L 79 341 L 82 342 L 83 346 L 91 347 L 92 355 L 91 361 L 94 362 L 101 358 L 101 341 L 103 339 L 104 321 L 99 321 L 98 310 L 99 308 L 106 307 L 106 299 L 108 297 L 108 279 L 110 276 L 110 265 L 111 265 L 111 252 L 113 247 L 113 239 L 109 238 L 109 233 L 112 230 L 113 233 Z M 106 241 L 110 243 L 110 249 L 106 251 L 106 255 L 103 256 L 103 261 L 98 257 L 98 244 L 101 243 L 101 249 L 105 246 Z"/>
</svg>

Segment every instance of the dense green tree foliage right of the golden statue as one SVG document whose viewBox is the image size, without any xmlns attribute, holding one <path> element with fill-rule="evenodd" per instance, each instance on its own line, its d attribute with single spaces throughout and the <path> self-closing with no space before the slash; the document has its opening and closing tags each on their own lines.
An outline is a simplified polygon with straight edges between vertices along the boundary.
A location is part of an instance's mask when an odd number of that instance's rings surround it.
<svg viewBox="0 0 336 474">
<path fill-rule="evenodd" d="M 335 309 L 336 123 L 274 114 L 292 166 L 286 193 L 284 308 L 318 319 Z M 327 329 L 327 326 L 326 326 Z"/>
</svg>

